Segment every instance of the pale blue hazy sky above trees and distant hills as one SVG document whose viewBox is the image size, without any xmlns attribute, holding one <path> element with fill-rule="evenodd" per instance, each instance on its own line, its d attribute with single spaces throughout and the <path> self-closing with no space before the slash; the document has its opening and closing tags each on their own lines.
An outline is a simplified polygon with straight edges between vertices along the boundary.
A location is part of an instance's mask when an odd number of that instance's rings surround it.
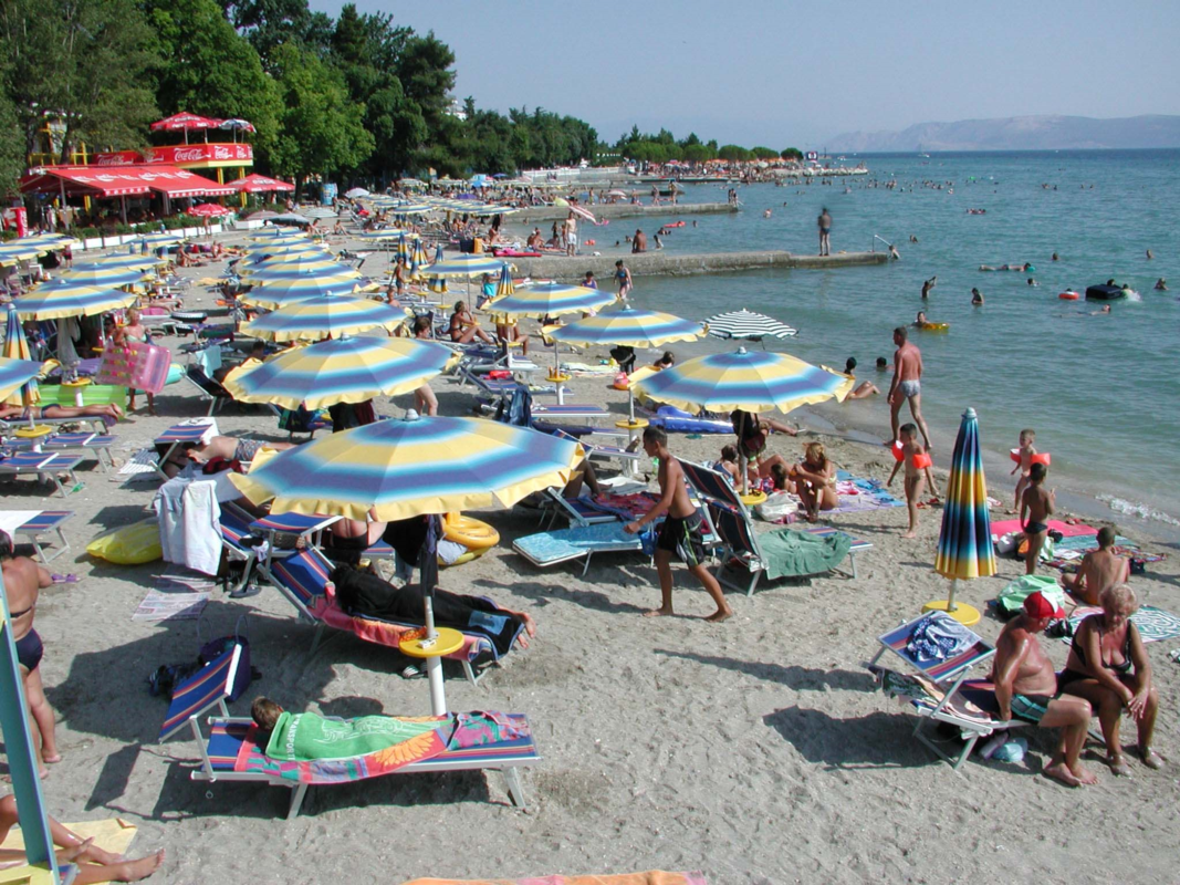
<svg viewBox="0 0 1180 885">
<path fill-rule="evenodd" d="M 434 31 L 455 54 L 458 98 L 579 117 L 610 143 L 632 125 L 781 150 L 926 122 L 1180 113 L 1174 0 L 356 7 Z"/>
</svg>

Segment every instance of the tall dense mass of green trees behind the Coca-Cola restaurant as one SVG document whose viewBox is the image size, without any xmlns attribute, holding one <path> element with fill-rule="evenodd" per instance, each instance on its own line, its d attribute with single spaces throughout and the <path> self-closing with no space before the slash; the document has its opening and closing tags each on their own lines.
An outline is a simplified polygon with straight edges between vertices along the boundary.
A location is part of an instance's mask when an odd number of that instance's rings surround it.
<svg viewBox="0 0 1180 885">
<path fill-rule="evenodd" d="M 0 0 L 0 190 L 39 131 L 133 149 L 178 111 L 250 120 L 261 171 L 382 182 L 512 172 L 592 159 L 586 123 L 536 109 L 505 117 L 468 98 L 451 113 L 454 53 L 391 15 L 339 18 L 307 0 Z"/>
</svg>

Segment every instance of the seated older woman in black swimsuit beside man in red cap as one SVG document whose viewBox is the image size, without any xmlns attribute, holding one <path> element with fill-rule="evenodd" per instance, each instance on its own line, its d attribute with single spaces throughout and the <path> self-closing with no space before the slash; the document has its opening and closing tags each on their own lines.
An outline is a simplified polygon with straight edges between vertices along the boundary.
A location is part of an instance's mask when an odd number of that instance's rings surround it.
<svg viewBox="0 0 1180 885">
<path fill-rule="evenodd" d="M 1097 712 L 1112 772 L 1130 774 L 1119 742 L 1123 709 L 1139 726 L 1139 758 L 1148 768 L 1159 768 L 1162 761 L 1152 752 L 1152 735 L 1160 699 L 1152 686 L 1152 664 L 1139 628 L 1130 621 L 1139 608 L 1135 591 L 1122 584 L 1104 590 L 1099 598 L 1102 614 L 1090 615 L 1079 625 L 1057 687 L 1084 697 Z"/>
</svg>

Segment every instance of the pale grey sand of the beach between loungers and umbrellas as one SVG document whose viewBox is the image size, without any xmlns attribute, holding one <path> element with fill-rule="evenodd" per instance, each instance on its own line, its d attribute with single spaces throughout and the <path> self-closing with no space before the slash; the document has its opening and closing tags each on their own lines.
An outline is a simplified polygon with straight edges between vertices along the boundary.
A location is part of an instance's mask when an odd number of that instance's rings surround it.
<svg viewBox="0 0 1180 885">
<path fill-rule="evenodd" d="M 208 289 L 190 291 L 186 307 L 212 303 Z M 182 341 L 160 343 L 175 349 Z M 533 343 L 537 361 L 551 363 L 551 352 Z M 590 349 L 578 359 L 594 363 L 604 355 Z M 575 378 L 569 399 L 609 404 L 622 417 L 625 394 L 608 385 L 608 378 Z M 448 376 L 432 387 L 440 414 L 471 413 L 472 388 Z M 159 418 L 137 412 L 116 427 L 117 458 L 203 414 L 194 393 L 186 384 L 166 387 L 156 399 Z M 413 404 L 402 396 L 376 405 L 400 415 Z M 230 405 L 217 420 L 224 434 L 286 439 L 261 408 Z M 773 438 L 773 451 L 795 459 L 805 442 L 820 439 L 839 467 L 887 478 L 892 458 L 884 447 L 820 435 L 808 427 L 830 422 L 806 411 L 791 420 L 804 432 Z M 676 434 L 670 448 L 712 461 L 730 440 Z M 286 821 L 287 791 L 190 782 L 196 745 L 184 738 L 156 743 L 166 702 L 149 695 L 146 680 L 160 664 L 195 657 L 198 623 L 132 621 L 164 563 L 119 566 L 85 553 L 99 531 L 140 519 L 156 489 L 92 465 L 80 473 L 86 487 L 65 502 L 44 497 L 45 486 L 27 478 L 0 492 L 9 510 L 76 512 L 66 526 L 72 550 L 52 570 L 76 572 L 80 582 L 42 591 L 37 611 L 42 678 L 64 755 L 44 781 L 47 808 L 60 820 L 137 824 L 133 856 L 168 850 L 151 881 L 330 883 L 345 874 L 399 883 L 643 868 L 699 868 L 719 885 L 1176 880 L 1174 848 L 1167 848 L 1180 808 L 1180 674 L 1168 657 L 1175 640 L 1148 645 L 1165 768 L 1133 761 L 1134 775 L 1116 780 L 1090 759 L 1100 784 L 1083 789 L 1041 776 L 1055 738 L 1034 729 L 1023 732 L 1030 740 L 1023 762 L 972 760 L 956 775 L 912 740 L 907 708 L 874 690 L 863 664 L 876 654 L 876 637 L 946 595 L 948 582 L 932 569 L 939 509 L 923 511 L 913 540 L 900 538 L 904 507 L 824 519 L 873 544 L 858 556 L 858 577 L 763 581 L 752 598 L 730 591 L 735 617 L 720 625 L 700 620 L 710 611 L 708 597 L 680 566 L 680 616 L 643 618 L 658 604 L 647 559 L 599 555 L 584 577 L 581 566 L 536 569 L 511 549 L 513 538 L 538 530 L 536 511 L 478 513 L 499 530 L 500 545 L 444 571 L 441 584 L 530 612 L 538 634 L 478 686 L 448 668 L 447 699 L 455 710 L 529 715 L 544 761 L 523 773 L 527 811 L 512 807 L 494 773 L 467 772 L 313 789 L 301 817 Z M 945 471 L 937 476 L 945 480 Z M 989 479 L 992 497 L 1007 503 L 1011 481 Z M 1171 555 L 1133 578 L 1140 602 L 1180 612 L 1176 551 L 1140 540 Z M 1023 563 L 1001 558 L 999 573 L 963 586 L 961 598 L 984 607 L 1023 571 Z M 232 632 L 242 615 L 262 675 L 231 706 L 234 714 L 248 715 L 257 694 L 341 716 L 430 712 L 425 680 L 401 678 L 406 662 L 395 653 L 335 635 L 313 654 L 314 629 L 269 588 L 241 601 L 215 588 L 201 635 Z M 1001 622 L 985 614 L 976 629 L 995 640 Z M 1042 644 L 1064 663 L 1066 644 Z M 1133 741 L 1125 723 L 1123 742 Z"/>
</svg>

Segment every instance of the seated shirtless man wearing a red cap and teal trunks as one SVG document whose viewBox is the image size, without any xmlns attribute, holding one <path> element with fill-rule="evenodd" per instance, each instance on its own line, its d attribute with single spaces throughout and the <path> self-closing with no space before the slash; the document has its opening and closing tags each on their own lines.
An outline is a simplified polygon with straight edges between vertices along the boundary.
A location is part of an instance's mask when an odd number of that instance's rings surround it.
<svg viewBox="0 0 1180 885">
<path fill-rule="evenodd" d="M 1015 715 L 1035 722 L 1038 728 L 1061 729 L 1057 750 L 1044 773 L 1077 787 L 1097 784 L 1097 778 L 1082 767 L 1079 758 L 1090 725 L 1090 703 L 1071 695 L 1057 696 L 1057 674 L 1036 637 L 1050 621 L 1064 616 L 1064 610 L 1040 590 L 1024 599 L 1024 610 L 1004 625 L 996 640 L 991 681 L 996 684 L 1001 720 L 1008 722 Z"/>
</svg>

